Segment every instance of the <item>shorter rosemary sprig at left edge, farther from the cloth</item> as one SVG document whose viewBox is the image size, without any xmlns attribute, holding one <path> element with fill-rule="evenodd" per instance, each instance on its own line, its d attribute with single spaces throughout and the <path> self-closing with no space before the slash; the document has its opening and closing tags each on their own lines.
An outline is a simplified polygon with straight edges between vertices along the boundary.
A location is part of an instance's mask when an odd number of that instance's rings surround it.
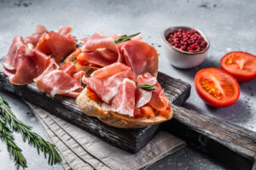
<svg viewBox="0 0 256 170">
<path fill-rule="evenodd" d="M 11 135 L 12 131 L 0 116 L 0 138 L 7 144 L 7 150 L 14 156 L 15 165 L 26 167 L 26 159 L 21 153 L 21 149 L 15 144 L 15 139 Z"/>
</svg>

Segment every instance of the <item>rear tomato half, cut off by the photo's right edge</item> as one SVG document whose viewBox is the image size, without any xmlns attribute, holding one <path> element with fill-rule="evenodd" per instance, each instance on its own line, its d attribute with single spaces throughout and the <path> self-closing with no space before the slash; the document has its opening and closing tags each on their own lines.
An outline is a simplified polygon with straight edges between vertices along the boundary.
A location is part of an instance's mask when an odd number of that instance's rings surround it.
<svg viewBox="0 0 256 170">
<path fill-rule="evenodd" d="M 236 77 L 238 82 L 249 82 L 256 77 L 256 56 L 241 51 L 225 54 L 221 68 Z"/>
</svg>

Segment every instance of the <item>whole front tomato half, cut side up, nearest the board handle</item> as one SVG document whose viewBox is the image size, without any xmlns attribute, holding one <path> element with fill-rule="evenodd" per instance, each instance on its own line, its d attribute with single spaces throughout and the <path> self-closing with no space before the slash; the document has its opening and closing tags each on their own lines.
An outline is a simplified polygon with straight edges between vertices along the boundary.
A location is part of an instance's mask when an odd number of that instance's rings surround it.
<svg viewBox="0 0 256 170">
<path fill-rule="evenodd" d="M 240 95 L 236 79 L 217 68 L 198 71 L 195 75 L 195 90 L 201 99 L 214 107 L 232 105 Z"/>
</svg>

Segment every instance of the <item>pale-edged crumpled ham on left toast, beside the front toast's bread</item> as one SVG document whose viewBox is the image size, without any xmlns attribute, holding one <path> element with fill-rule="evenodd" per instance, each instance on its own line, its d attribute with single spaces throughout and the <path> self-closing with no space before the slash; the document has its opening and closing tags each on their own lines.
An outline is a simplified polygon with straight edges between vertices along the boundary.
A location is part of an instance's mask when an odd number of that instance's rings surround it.
<svg viewBox="0 0 256 170">
<path fill-rule="evenodd" d="M 54 97 L 55 94 L 61 94 L 76 98 L 84 89 L 81 86 L 84 71 L 73 74 L 74 71 L 75 65 L 68 64 L 60 68 L 60 66 L 52 60 L 47 69 L 39 77 L 34 79 L 34 82 L 39 90 L 50 94 L 52 97 Z"/>
</svg>

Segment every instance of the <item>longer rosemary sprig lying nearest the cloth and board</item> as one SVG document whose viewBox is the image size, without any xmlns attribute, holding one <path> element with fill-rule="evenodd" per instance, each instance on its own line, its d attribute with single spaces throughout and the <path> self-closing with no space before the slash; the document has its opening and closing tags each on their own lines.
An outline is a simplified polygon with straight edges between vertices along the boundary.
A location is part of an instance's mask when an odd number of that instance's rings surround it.
<svg viewBox="0 0 256 170">
<path fill-rule="evenodd" d="M 32 127 L 27 126 L 14 115 L 10 110 L 9 104 L 0 96 L 0 113 L 3 116 L 3 120 L 8 122 L 9 127 L 15 131 L 20 132 L 24 142 L 28 141 L 28 144 L 32 144 L 33 147 L 37 148 L 38 154 L 44 153 L 44 157 L 48 155 L 49 165 L 53 165 L 58 161 L 61 161 L 61 156 L 55 150 L 54 144 L 50 144 L 44 140 L 37 133 L 32 132 Z"/>
</svg>

